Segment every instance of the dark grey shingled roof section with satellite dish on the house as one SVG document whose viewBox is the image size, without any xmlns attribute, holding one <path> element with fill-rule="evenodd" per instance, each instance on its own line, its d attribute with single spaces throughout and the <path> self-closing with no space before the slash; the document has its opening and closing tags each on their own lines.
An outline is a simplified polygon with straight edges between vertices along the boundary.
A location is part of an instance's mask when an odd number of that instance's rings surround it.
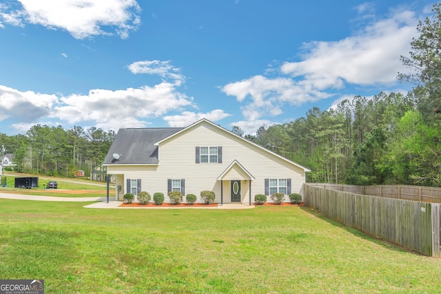
<svg viewBox="0 0 441 294">
<path fill-rule="evenodd" d="M 104 165 L 158 164 L 158 146 L 154 143 L 181 131 L 182 127 L 119 129 Z M 119 160 L 113 154 L 121 154 Z"/>
</svg>

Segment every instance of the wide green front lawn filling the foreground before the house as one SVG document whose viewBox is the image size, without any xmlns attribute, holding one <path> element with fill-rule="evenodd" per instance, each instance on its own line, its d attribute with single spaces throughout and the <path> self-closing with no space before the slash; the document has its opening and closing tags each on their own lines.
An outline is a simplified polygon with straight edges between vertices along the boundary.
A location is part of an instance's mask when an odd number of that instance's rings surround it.
<svg viewBox="0 0 441 294">
<path fill-rule="evenodd" d="M 441 260 L 305 207 L 83 205 L 0 200 L 0 277 L 46 293 L 441 292 Z"/>
</svg>

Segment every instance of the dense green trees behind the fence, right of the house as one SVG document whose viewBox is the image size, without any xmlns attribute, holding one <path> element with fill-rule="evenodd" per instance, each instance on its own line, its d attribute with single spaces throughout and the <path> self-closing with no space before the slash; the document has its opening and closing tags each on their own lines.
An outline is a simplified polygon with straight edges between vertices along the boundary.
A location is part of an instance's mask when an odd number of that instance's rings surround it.
<svg viewBox="0 0 441 294">
<path fill-rule="evenodd" d="M 356 96 L 245 138 L 311 169 L 309 182 L 440 187 L 441 114 L 418 105 L 411 93 Z"/>
</svg>

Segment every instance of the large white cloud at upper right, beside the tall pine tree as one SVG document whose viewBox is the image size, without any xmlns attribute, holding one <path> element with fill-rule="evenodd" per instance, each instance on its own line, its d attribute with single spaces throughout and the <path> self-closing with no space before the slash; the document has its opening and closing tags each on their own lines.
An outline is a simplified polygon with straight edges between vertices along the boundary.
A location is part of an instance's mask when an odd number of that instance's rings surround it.
<svg viewBox="0 0 441 294">
<path fill-rule="evenodd" d="M 391 85 L 398 72 L 406 71 L 400 61 L 416 36 L 413 12 L 400 12 L 390 19 L 372 23 L 357 36 L 336 42 L 316 41 L 305 47 L 303 61 L 285 63 L 283 74 L 301 77 L 302 84 L 325 90 L 345 83 Z"/>
</svg>

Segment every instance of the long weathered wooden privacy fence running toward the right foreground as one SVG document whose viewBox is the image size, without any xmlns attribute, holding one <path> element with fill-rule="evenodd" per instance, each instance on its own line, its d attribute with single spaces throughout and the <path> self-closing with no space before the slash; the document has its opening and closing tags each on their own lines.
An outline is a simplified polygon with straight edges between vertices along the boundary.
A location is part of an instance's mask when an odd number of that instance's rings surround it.
<svg viewBox="0 0 441 294">
<path fill-rule="evenodd" d="M 315 184 L 314 184 L 315 185 Z M 441 204 L 305 184 L 303 202 L 325 216 L 428 256 L 441 257 Z"/>
</svg>

